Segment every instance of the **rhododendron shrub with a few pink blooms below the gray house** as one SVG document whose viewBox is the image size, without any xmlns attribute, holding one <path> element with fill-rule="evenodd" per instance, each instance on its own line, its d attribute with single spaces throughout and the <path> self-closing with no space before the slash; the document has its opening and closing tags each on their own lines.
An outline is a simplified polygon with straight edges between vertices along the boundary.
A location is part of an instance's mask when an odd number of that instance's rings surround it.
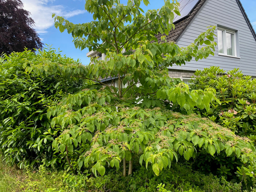
<svg viewBox="0 0 256 192">
<path fill-rule="evenodd" d="M 231 129 L 240 136 L 256 139 L 256 79 L 243 76 L 239 69 L 224 71 L 219 67 L 197 70 L 191 80 L 191 89 L 212 87 L 221 104 L 211 101 L 210 110 L 200 114 Z M 199 112 L 199 111 L 198 111 Z"/>
</svg>

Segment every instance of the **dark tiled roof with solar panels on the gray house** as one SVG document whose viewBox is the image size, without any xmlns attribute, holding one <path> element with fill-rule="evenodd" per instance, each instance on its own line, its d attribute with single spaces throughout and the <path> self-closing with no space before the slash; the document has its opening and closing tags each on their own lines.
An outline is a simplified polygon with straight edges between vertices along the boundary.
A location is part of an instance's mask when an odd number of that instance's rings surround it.
<svg viewBox="0 0 256 192">
<path fill-rule="evenodd" d="M 186 29 L 186 27 L 190 24 L 190 22 L 193 20 L 193 18 L 195 17 L 195 15 L 197 14 L 197 12 L 201 9 L 201 7 L 204 5 L 204 3 L 207 0 L 181 0 L 179 1 L 181 3 L 180 6 L 180 12 L 181 12 L 181 16 L 175 16 L 174 20 L 173 20 L 173 24 L 175 25 L 175 29 L 172 29 L 169 34 L 166 37 L 167 42 L 169 41 L 177 41 L 177 39 L 179 38 L 179 36 L 182 34 L 182 32 Z M 247 21 L 249 28 L 251 29 L 254 38 L 256 40 L 256 33 L 250 23 L 250 20 L 248 19 L 248 16 L 245 13 L 245 9 L 242 6 L 242 3 L 240 2 L 240 0 L 236 0 L 243 15 L 245 16 L 245 20 Z M 196 2 L 196 4 L 195 4 Z M 183 5 L 182 5 L 183 3 Z M 193 6 L 193 7 L 192 7 Z M 190 7 L 190 8 L 188 8 Z M 184 11 L 185 10 L 185 11 Z M 190 10 L 190 11 L 188 11 Z M 187 15 L 186 15 L 187 13 Z M 156 38 L 158 40 L 161 39 L 162 34 L 158 33 L 156 35 Z"/>
</svg>

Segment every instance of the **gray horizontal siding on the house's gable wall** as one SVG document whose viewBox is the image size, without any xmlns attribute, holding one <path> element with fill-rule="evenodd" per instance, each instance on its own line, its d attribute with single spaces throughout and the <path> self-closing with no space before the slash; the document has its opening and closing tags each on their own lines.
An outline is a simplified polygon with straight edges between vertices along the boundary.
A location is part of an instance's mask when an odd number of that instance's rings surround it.
<svg viewBox="0 0 256 192">
<path fill-rule="evenodd" d="M 245 75 L 256 76 L 256 40 L 236 0 L 208 0 L 194 17 L 190 25 L 177 40 L 180 47 L 194 42 L 198 35 L 207 30 L 207 26 L 221 25 L 237 31 L 237 55 L 240 58 L 218 55 L 218 46 L 214 56 L 207 59 L 191 60 L 185 66 L 174 66 L 170 69 L 195 71 L 210 66 L 219 66 L 224 70 L 240 68 Z M 215 32 L 217 35 L 217 31 Z M 217 36 L 215 37 L 217 42 Z"/>
</svg>

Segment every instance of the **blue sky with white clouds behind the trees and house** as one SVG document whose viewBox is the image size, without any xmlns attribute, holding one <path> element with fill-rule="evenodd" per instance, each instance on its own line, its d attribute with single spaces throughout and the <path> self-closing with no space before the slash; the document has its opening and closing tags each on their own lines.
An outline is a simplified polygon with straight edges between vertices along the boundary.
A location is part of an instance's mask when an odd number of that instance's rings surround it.
<svg viewBox="0 0 256 192">
<path fill-rule="evenodd" d="M 62 54 L 75 60 L 79 59 L 83 65 L 87 65 L 90 59 L 86 57 L 88 49 L 80 51 L 74 47 L 71 34 L 66 31 L 61 33 L 54 27 L 52 13 L 65 16 L 73 23 L 86 23 L 92 21 L 92 15 L 84 10 L 85 0 L 21 0 L 24 8 L 31 13 L 35 21 L 35 29 L 40 35 L 44 44 L 52 45 L 53 48 L 60 48 Z M 123 1 L 123 0 L 122 0 Z M 240 0 L 245 12 L 256 31 L 256 0 Z M 147 9 L 158 9 L 164 5 L 164 0 L 150 0 Z M 45 45 L 46 46 L 46 45 Z"/>
</svg>

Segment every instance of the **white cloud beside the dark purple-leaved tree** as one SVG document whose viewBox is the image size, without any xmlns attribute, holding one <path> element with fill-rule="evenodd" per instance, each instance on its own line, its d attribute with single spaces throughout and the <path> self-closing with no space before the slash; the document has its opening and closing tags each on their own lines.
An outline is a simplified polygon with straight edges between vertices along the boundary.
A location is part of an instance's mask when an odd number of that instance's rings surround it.
<svg viewBox="0 0 256 192">
<path fill-rule="evenodd" d="M 52 13 L 65 18 L 73 17 L 85 12 L 85 10 L 65 10 L 62 5 L 52 5 L 54 0 L 21 0 L 24 9 L 31 13 L 32 19 L 35 21 L 35 29 L 38 33 L 47 33 L 47 29 L 54 25 Z M 50 5 L 51 4 L 51 5 Z"/>
</svg>

